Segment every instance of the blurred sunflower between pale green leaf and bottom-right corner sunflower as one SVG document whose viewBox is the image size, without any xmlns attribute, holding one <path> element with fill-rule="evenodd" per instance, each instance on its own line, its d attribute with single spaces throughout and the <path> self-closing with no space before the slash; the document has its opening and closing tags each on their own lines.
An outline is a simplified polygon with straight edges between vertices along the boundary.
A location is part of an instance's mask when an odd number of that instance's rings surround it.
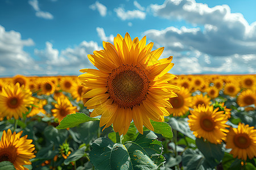
<svg viewBox="0 0 256 170">
<path fill-rule="evenodd" d="M 226 133 L 229 131 L 226 129 L 229 126 L 225 124 L 228 118 L 223 114 L 224 111 L 217 111 L 218 108 L 213 111 L 213 105 L 200 105 L 190 111 L 188 125 L 197 138 L 202 137 L 215 144 L 225 141 Z"/>
</svg>

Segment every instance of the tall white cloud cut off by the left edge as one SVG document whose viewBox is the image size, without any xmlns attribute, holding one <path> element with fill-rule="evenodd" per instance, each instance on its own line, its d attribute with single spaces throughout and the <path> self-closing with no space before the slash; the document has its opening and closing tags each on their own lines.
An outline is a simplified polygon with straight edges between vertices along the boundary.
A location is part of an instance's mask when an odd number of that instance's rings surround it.
<svg viewBox="0 0 256 170">
<path fill-rule="evenodd" d="M 32 45 L 32 39 L 22 40 L 19 32 L 6 31 L 0 25 L 0 75 L 27 74 L 29 71 L 38 70 L 39 66 L 34 59 L 23 50 L 24 46 Z"/>
</svg>

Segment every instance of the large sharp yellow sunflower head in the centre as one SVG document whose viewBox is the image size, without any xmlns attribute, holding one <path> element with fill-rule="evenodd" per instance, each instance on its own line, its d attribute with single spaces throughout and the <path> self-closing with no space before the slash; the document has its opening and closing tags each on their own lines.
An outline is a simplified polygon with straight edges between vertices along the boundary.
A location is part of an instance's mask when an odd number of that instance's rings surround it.
<svg viewBox="0 0 256 170">
<path fill-rule="evenodd" d="M 167 73 L 173 66 L 172 56 L 159 59 L 163 47 L 151 51 L 153 43 L 146 45 L 146 36 L 139 41 L 131 40 L 129 33 L 123 38 L 117 35 L 114 45 L 103 42 L 104 50 L 88 55 L 99 70 L 82 69 L 80 81 L 92 88 L 84 97 L 92 99 L 85 103 L 94 109 L 90 116 L 101 116 L 104 129 L 113 124 L 115 132 L 126 134 L 131 120 L 139 133 L 143 125 L 154 130 L 150 120 L 162 122 L 171 108 L 168 99 L 175 97 L 178 87 L 168 81 L 175 75 Z M 159 59 L 159 60 L 158 60 Z"/>
</svg>

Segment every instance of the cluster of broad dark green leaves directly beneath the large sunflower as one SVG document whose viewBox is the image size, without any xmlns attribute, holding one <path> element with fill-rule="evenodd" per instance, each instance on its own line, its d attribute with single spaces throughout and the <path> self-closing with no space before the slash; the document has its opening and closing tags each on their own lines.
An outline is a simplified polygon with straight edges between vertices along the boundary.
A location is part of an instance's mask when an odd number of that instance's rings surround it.
<svg viewBox="0 0 256 170">
<path fill-rule="evenodd" d="M 96 169 L 158 169 L 164 157 L 161 142 L 151 131 L 139 134 L 133 142 L 114 143 L 98 138 L 92 143 L 90 160 Z"/>
</svg>

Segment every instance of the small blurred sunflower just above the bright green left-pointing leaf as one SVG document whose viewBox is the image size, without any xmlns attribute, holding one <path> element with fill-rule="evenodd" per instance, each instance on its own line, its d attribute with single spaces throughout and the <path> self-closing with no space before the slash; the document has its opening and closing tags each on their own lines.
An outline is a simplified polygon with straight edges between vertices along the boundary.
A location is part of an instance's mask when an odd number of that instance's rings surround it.
<svg viewBox="0 0 256 170">
<path fill-rule="evenodd" d="M 52 103 L 55 109 L 52 109 L 52 116 L 57 118 L 59 122 L 63 120 L 68 114 L 76 113 L 76 107 L 73 107 L 71 102 L 68 100 L 68 97 L 62 95 L 57 98 L 57 103 Z"/>
</svg>

